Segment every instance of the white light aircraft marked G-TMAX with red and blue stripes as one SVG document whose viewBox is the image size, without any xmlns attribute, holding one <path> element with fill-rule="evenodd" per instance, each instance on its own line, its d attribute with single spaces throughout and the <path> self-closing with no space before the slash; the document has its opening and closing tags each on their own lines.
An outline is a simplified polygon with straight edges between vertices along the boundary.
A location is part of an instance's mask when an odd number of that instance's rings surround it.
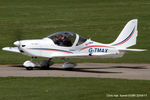
<svg viewBox="0 0 150 100">
<path fill-rule="evenodd" d="M 2 50 L 21 53 L 32 58 L 44 57 L 48 60 L 39 64 L 32 60 L 24 62 L 27 70 L 37 65 L 49 68 L 53 64 L 52 58 L 118 58 L 128 51 L 145 51 L 144 49 L 128 49 L 136 44 L 138 35 L 137 19 L 129 21 L 118 38 L 110 43 L 103 44 L 86 39 L 72 32 L 56 32 L 43 39 L 20 40 L 14 42 L 17 47 L 4 47 Z M 73 68 L 75 63 L 65 62 L 64 68 Z"/>
</svg>

